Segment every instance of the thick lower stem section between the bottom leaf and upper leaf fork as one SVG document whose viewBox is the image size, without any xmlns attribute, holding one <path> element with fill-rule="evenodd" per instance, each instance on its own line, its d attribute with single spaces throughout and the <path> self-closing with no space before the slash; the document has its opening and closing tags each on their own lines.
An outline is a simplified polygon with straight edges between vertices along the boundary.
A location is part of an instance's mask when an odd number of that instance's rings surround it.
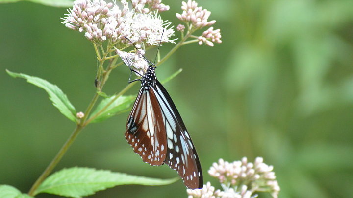
<svg viewBox="0 0 353 198">
<path fill-rule="evenodd" d="M 61 147 L 60 151 L 56 154 L 56 156 L 52 159 L 52 161 L 50 162 L 49 166 L 45 169 L 45 171 L 42 173 L 41 176 L 38 177 L 38 179 L 34 182 L 33 186 L 31 187 L 31 189 L 28 192 L 29 196 L 35 196 L 36 195 L 36 190 L 39 187 L 39 185 L 44 181 L 44 179 L 47 178 L 47 176 L 49 176 L 49 174 L 51 173 L 51 171 L 55 168 L 55 166 L 59 163 L 59 161 L 61 160 L 61 158 L 64 156 L 64 154 L 66 153 L 66 151 L 69 149 L 69 147 L 71 146 L 71 144 L 74 142 L 74 140 L 76 139 L 78 133 L 82 130 L 83 128 L 79 125 L 76 126 L 76 129 L 74 130 L 74 132 L 72 132 L 72 134 L 70 135 L 69 139 L 66 140 L 65 144 Z"/>
</svg>

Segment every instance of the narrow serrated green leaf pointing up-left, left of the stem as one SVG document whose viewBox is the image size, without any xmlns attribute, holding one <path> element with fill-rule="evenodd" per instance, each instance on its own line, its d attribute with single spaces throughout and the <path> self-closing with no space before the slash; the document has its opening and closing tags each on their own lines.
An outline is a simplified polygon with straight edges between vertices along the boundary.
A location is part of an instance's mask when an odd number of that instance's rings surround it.
<svg viewBox="0 0 353 198">
<path fill-rule="evenodd" d="M 71 121 L 76 122 L 76 110 L 75 107 L 70 103 L 67 96 L 62 92 L 60 88 L 56 85 L 50 84 L 48 81 L 43 80 L 38 77 L 28 76 L 22 73 L 14 73 L 6 69 L 6 72 L 16 78 L 24 78 L 27 80 L 28 83 L 31 83 L 39 88 L 43 88 L 49 94 L 49 99 L 51 100 L 52 104 L 60 110 L 62 114 L 64 114 L 67 118 Z"/>
</svg>

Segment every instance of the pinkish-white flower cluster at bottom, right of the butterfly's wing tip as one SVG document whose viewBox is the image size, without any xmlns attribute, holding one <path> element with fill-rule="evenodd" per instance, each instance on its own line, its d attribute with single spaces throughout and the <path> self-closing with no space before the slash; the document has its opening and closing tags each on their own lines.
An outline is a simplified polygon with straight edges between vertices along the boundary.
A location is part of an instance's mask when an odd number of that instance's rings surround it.
<svg viewBox="0 0 353 198">
<path fill-rule="evenodd" d="M 257 157 L 254 163 L 248 163 L 246 157 L 243 157 L 242 161 L 232 163 L 219 159 L 218 163 L 213 163 L 208 174 L 218 178 L 226 186 L 247 183 L 252 192 L 266 189 L 274 198 L 278 197 L 280 191 L 273 166 L 263 163 L 262 157 Z"/>
</svg>

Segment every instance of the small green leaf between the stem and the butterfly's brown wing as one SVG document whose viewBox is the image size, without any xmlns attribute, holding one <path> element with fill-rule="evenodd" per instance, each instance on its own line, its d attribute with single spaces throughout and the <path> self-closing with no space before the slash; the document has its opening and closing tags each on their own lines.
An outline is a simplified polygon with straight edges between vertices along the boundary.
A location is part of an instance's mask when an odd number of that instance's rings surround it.
<svg viewBox="0 0 353 198">
<path fill-rule="evenodd" d="M 100 110 L 106 107 L 110 102 L 114 100 L 116 95 L 113 95 L 109 98 L 104 98 L 101 103 L 97 106 L 97 108 L 92 112 L 91 117 L 95 116 Z M 101 122 L 103 120 L 108 119 L 122 111 L 128 109 L 132 103 L 134 102 L 136 96 L 129 95 L 129 96 L 120 96 L 115 99 L 105 110 L 103 110 L 100 115 L 92 120 L 93 123 Z"/>
</svg>

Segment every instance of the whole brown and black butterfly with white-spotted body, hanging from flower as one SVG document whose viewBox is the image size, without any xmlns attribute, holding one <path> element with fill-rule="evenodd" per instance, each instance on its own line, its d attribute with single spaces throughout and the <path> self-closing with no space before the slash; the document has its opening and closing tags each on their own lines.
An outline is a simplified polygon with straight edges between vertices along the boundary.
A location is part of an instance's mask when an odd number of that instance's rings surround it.
<svg viewBox="0 0 353 198">
<path fill-rule="evenodd" d="M 136 154 L 151 166 L 167 164 L 187 188 L 202 188 L 201 164 L 194 144 L 167 90 L 157 80 L 156 66 L 141 79 L 141 89 L 128 116 L 125 137 Z M 134 82 L 134 81 L 130 81 Z"/>
</svg>

